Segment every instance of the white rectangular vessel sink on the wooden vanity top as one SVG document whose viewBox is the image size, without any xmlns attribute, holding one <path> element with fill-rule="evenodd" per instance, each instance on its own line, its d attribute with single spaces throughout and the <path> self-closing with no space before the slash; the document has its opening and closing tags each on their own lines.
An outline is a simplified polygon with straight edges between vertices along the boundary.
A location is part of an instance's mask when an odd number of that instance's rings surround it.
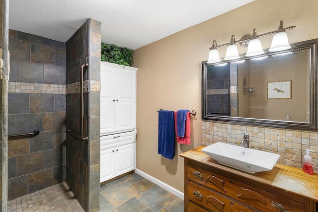
<svg viewBox="0 0 318 212">
<path fill-rule="evenodd" d="M 217 142 L 201 149 L 223 165 L 248 173 L 272 170 L 279 154 Z"/>
</svg>

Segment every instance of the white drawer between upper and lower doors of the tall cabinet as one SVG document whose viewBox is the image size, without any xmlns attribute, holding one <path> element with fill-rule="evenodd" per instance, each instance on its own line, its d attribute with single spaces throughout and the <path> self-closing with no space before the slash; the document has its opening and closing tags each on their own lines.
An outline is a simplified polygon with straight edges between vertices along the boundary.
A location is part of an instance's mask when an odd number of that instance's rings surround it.
<svg viewBox="0 0 318 212">
<path fill-rule="evenodd" d="M 100 137 L 100 150 L 136 141 L 137 131 L 118 133 Z"/>
</svg>

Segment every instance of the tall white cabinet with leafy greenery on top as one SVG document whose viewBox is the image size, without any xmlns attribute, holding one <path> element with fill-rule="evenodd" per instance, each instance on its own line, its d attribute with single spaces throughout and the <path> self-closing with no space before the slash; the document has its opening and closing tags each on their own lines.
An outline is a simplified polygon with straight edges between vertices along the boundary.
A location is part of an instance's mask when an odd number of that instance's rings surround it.
<svg viewBox="0 0 318 212">
<path fill-rule="evenodd" d="M 100 182 L 136 168 L 136 72 L 100 65 Z"/>
</svg>

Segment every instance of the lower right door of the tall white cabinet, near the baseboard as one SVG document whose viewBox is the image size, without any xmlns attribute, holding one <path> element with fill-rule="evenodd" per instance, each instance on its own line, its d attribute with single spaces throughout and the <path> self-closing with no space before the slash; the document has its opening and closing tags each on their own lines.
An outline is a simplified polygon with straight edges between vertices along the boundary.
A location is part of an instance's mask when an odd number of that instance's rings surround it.
<svg viewBox="0 0 318 212">
<path fill-rule="evenodd" d="M 118 146 L 115 149 L 115 175 L 121 175 L 136 168 L 135 143 Z"/>
</svg>

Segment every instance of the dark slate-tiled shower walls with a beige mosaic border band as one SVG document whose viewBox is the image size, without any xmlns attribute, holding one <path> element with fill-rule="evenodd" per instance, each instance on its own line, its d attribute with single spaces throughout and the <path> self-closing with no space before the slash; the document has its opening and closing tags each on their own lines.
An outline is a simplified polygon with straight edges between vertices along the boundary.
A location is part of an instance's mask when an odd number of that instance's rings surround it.
<svg viewBox="0 0 318 212">
<path fill-rule="evenodd" d="M 65 178 L 85 211 L 99 209 L 100 22 L 87 19 L 66 42 L 9 30 L 8 200 L 56 185 Z M 79 134 L 80 65 L 85 71 L 84 123 Z"/>
</svg>

